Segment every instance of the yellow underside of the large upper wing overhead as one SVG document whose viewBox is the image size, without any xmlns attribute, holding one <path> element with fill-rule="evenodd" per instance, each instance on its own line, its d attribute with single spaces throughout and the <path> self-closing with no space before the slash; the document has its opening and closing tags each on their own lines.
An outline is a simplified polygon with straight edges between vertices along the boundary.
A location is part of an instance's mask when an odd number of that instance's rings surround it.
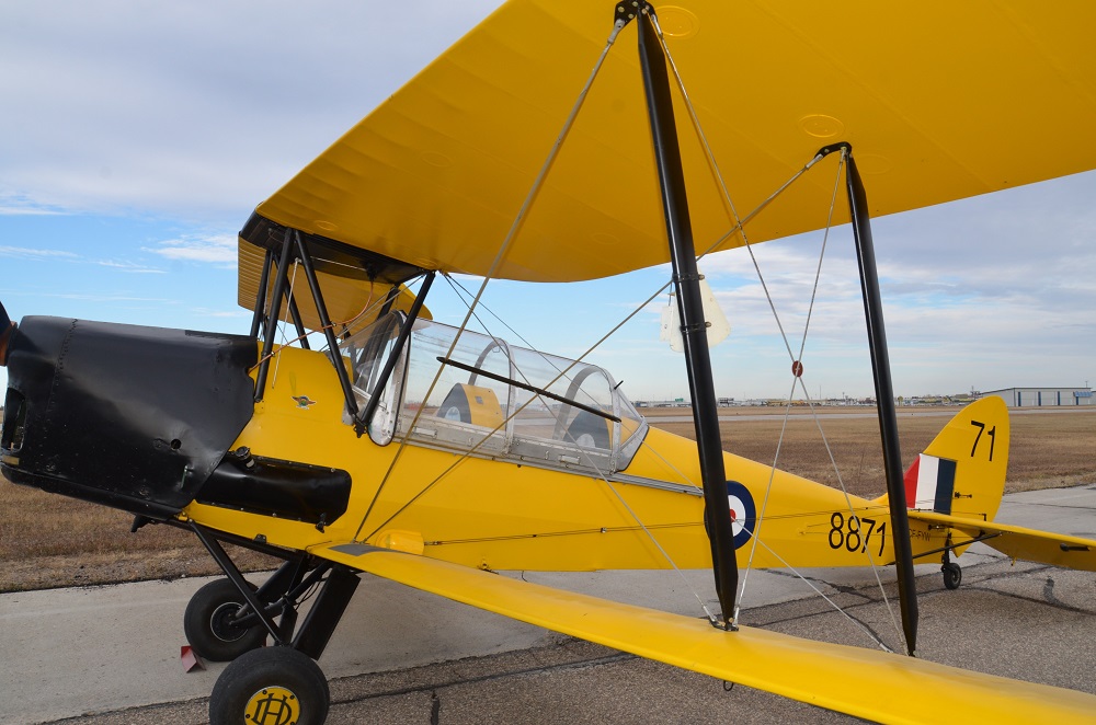
<svg viewBox="0 0 1096 725">
<path fill-rule="evenodd" d="M 420 267 L 486 274 L 614 7 L 512 0 L 258 212 Z M 1088 0 L 675 0 L 658 14 L 740 215 L 836 141 L 853 145 L 875 216 L 1096 168 Z M 495 276 L 586 279 L 667 261 L 635 25 Z M 732 225 L 675 104 L 703 251 Z M 747 225 L 751 241 L 825 225 L 835 158 L 815 170 Z"/>
</svg>

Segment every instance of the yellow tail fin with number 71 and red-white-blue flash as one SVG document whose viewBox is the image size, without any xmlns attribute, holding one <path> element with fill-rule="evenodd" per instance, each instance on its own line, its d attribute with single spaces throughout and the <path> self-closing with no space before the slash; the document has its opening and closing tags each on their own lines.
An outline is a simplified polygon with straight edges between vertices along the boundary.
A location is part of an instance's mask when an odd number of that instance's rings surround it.
<svg viewBox="0 0 1096 725">
<path fill-rule="evenodd" d="M 1008 408 L 996 395 L 951 418 L 905 472 L 906 506 L 992 521 L 1008 468 Z"/>
</svg>

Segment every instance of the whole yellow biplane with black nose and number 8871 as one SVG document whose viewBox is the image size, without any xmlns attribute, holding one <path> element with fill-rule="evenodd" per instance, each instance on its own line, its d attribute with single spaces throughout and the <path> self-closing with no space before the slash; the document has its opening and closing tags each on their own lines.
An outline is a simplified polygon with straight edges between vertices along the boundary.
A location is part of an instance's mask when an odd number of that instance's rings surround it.
<svg viewBox="0 0 1096 725">
<path fill-rule="evenodd" d="M 274 704 L 324 720 L 313 660 L 362 572 L 869 720 L 916 720 L 925 692 L 926 717 L 1091 720 L 1087 694 L 740 626 L 734 606 L 737 552 L 758 540 L 758 566 L 894 564 L 913 655 L 914 562 L 943 560 L 955 587 L 950 557 L 985 541 L 1096 569 L 1094 541 L 993 523 L 1000 400 L 903 472 L 869 223 L 1096 169 L 1094 26 L 1082 0 L 512 0 L 259 205 L 239 240 L 250 335 L 4 314 L 0 468 L 202 540 L 226 577 L 184 625 L 232 660 L 214 723 Z M 871 500 L 723 452 L 696 269 L 845 222 L 887 469 Z M 475 300 L 456 326 L 424 306 L 438 275 L 666 262 L 695 444 L 649 427 L 605 369 L 472 332 Z M 226 542 L 285 563 L 254 587 Z M 491 574 L 671 566 L 712 568 L 721 613 Z"/>
</svg>

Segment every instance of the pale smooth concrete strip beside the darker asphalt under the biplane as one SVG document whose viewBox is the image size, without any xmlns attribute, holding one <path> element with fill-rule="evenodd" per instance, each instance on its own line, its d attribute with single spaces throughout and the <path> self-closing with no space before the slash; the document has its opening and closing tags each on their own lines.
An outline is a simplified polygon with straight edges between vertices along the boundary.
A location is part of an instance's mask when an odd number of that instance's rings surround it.
<svg viewBox="0 0 1096 725">
<path fill-rule="evenodd" d="M 997 520 L 1096 539 L 1096 486 L 1012 494 Z M 960 563 L 970 569 L 998 559 L 978 545 Z M 941 588 L 938 564 L 917 569 L 918 588 Z M 869 569 L 804 574 L 827 596 L 875 588 L 878 597 Z M 880 577 L 890 584 L 893 574 L 884 568 Z M 718 610 L 710 572 L 526 573 L 524 578 L 693 617 L 703 615 L 698 598 Z M 1084 575 L 1077 586 L 1087 582 L 1092 588 L 1092 578 Z M 180 647 L 186 644 L 186 602 L 208 580 L 0 595 L 0 722 L 34 723 L 207 697 L 225 665 L 186 674 Z M 812 597 L 815 592 L 788 572 L 752 572 L 743 622 L 755 615 L 764 624 L 761 608 Z M 1039 626 L 1038 621 L 1027 624 Z M 880 625 L 878 631 L 898 646 L 892 630 Z M 525 649 L 551 640 L 545 630 L 366 576 L 320 666 L 329 679 L 338 679 Z M 870 646 L 853 629 L 846 641 Z"/>
</svg>

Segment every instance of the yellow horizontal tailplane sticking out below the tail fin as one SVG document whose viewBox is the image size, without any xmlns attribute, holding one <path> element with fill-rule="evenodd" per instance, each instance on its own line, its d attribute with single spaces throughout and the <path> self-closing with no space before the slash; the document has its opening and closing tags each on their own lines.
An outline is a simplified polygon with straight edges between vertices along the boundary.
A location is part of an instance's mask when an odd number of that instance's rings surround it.
<svg viewBox="0 0 1096 725">
<path fill-rule="evenodd" d="M 985 537 L 982 543 L 1013 559 L 1096 572 L 1096 541 L 1092 539 L 932 511 L 910 511 L 909 516 L 918 521 L 958 529 L 972 539 Z"/>
</svg>

